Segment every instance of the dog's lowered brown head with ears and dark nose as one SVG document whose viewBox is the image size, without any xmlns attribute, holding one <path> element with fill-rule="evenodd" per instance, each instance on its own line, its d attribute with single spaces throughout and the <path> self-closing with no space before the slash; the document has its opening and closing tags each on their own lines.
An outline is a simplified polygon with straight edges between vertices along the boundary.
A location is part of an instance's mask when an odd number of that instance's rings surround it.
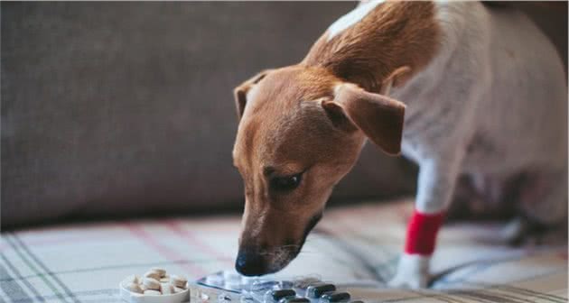
<svg viewBox="0 0 569 303">
<path fill-rule="evenodd" d="M 366 137 L 399 152 L 405 106 L 303 65 L 263 71 L 235 98 L 233 160 L 246 199 L 236 269 L 262 275 L 300 252 Z"/>
</svg>

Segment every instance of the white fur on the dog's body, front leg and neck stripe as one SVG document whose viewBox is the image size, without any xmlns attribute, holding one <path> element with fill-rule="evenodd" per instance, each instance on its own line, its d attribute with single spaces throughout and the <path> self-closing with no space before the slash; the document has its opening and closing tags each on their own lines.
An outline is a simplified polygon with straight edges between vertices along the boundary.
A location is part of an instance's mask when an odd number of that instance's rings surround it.
<svg viewBox="0 0 569 303">
<path fill-rule="evenodd" d="M 331 35 L 373 9 L 362 4 Z M 566 216 L 567 88 L 554 46 L 526 15 L 478 2 L 436 4 L 443 32 L 428 66 L 390 96 L 406 104 L 404 155 L 420 166 L 416 209 L 443 211 L 461 174 L 522 171 L 551 185 L 528 207 L 536 219 Z M 428 256 L 404 255 L 391 285 L 423 288 Z"/>
</svg>

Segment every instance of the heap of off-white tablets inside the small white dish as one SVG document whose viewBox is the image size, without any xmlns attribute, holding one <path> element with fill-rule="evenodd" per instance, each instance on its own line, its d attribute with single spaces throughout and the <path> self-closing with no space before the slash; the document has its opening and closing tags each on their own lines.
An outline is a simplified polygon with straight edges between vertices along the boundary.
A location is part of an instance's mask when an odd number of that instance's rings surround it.
<svg viewBox="0 0 569 303">
<path fill-rule="evenodd" d="M 120 285 L 130 292 L 148 296 L 173 295 L 188 289 L 188 280 L 182 276 L 169 275 L 161 268 L 146 271 L 142 278 L 132 275 Z"/>
</svg>

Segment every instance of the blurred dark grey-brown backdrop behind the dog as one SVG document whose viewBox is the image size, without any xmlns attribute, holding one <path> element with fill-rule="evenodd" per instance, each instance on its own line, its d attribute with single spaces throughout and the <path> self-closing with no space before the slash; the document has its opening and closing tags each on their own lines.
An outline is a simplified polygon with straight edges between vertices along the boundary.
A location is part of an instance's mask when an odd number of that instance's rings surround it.
<svg viewBox="0 0 569 303">
<path fill-rule="evenodd" d="M 238 209 L 233 87 L 356 3 L 1 5 L 5 227 Z M 542 15 L 564 58 L 566 11 Z M 415 172 L 368 144 L 333 197 L 411 193 Z"/>
</svg>

